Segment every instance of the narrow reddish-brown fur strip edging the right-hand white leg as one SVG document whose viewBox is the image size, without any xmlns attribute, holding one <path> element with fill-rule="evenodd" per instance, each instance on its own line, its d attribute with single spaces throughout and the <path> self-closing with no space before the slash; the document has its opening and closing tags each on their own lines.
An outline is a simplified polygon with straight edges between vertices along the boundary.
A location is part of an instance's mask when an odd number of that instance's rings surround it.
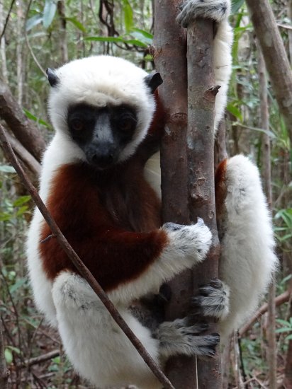
<svg viewBox="0 0 292 389">
<path fill-rule="evenodd" d="M 224 215 L 225 215 L 225 198 L 226 198 L 226 182 L 225 174 L 227 168 L 228 159 L 220 162 L 215 172 L 215 202 L 216 202 L 216 217 L 218 224 L 219 237 L 221 235 Z"/>
</svg>

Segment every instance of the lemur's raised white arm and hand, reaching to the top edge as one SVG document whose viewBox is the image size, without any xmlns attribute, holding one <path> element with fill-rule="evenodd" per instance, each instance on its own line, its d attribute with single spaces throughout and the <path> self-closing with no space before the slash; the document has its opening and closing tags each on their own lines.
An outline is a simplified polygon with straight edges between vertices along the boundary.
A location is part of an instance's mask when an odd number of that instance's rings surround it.
<svg viewBox="0 0 292 389">
<path fill-rule="evenodd" d="M 223 117 L 228 83 L 231 74 L 231 46 L 233 40 L 232 28 L 228 23 L 230 15 L 230 0 L 187 0 L 181 4 L 181 12 L 177 20 L 186 28 L 194 18 L 208 18 L 216 22 L 216 32 L 213 46 L 213 64 L 215 85 L 220 90 L 215 100 L 215 131 Z"/>
</svg>

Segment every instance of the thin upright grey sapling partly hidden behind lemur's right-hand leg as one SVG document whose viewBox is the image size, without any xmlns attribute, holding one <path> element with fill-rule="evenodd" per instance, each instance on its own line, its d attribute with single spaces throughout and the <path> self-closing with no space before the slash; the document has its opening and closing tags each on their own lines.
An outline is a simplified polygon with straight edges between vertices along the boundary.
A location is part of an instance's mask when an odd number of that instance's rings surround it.
<svg viewBox="0 0 292 389">
<path fill-rule="evenodd" d="M 268 91 L 266 81 L 266 66 L 264 64 L 264 57 L 262 50 L 258 46 L 259 55 L 259 100 L 260 100 L 260 117 L 261 128 L 269 130 L 269 104 Z M 271 145 L 268 134 L 262 136 L 262 177 L 264 180 L 264 192 L 266 199 L 271 209 L 272 194 L 271 194 Z M 269 301 L 268 301 L 268 344 L 269 344 L 269 386 L 276 388 L 276 308 L 275 308 L 276 287 L 275 279 L 269 287 Z"/>
</svg>

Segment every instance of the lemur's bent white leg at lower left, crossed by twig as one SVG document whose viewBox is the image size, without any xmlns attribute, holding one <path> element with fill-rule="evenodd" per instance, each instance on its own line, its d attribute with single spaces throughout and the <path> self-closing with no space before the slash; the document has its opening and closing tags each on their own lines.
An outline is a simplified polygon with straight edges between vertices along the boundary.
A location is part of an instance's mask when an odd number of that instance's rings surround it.
<svg viewBox="0 0 292 389">
<path fill-rule="evenodd" d="M 101 388 L 129 384 L 144 389 L 162 387 L 82 277 L 61 272 L 54 281 L 52 297 L 65 352 L 81 376 Z M 127 308 L 117 308 L 158 363 L 157 339 Z"/>
</svg>

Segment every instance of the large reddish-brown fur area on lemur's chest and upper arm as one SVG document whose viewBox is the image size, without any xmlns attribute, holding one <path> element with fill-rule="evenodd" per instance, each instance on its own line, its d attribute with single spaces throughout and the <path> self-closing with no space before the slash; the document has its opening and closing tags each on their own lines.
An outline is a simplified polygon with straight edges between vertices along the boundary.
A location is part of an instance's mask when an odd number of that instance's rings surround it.
<svg viewBox="0 0 292 389">
<path fill-rule="evenodd" d="M 145 272 L 167 244 L 163 231 L 133 232 L 150 231 L 160 223 L 159 202 L 142 176 L 108 174 L 86 164 L 62 166 L 47 200 L 64 236 L 106 290 Z M 50 233 L 44 222 L 41 239 Z M 75 271 L 54 238 L 40 243 L 40 253 L 50 279 L 62 269 Z"/>
</svg>

